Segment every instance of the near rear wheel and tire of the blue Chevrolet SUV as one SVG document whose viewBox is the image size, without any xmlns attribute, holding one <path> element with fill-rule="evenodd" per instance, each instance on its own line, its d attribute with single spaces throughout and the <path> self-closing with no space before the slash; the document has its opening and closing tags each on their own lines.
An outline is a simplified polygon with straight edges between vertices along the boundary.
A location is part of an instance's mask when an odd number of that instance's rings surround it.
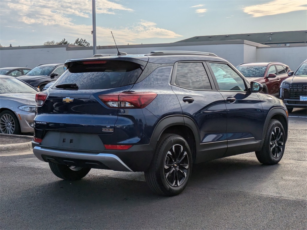
<svg viewBox="0 0 307 230">
<path fill-rule="evenodd" d="M 163 196 L 178 195 L 187 186 L 191 172 L 192 154 L 186 140 L 177 134 L 162 135 L 145 172 L 150 189 Z"/>
</svg>

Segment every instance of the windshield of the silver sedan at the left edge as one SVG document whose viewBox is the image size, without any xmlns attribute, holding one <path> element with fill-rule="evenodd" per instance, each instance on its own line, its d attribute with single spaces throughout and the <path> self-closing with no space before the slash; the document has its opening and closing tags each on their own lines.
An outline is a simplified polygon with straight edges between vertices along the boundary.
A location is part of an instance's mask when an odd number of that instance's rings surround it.
<svg viewBox="0 0 307 230">
<path fill-rule="evenodd" d="M 16 78 L 0 78 L 0 94 L 37 93 L 37 90 Z"/>
</svg>

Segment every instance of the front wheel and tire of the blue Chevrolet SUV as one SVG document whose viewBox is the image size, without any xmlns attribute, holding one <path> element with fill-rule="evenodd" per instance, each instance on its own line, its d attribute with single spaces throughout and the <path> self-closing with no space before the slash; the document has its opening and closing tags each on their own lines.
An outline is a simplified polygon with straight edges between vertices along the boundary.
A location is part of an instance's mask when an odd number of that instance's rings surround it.
<svg viewBox="0 0 307 230">
<path fill-rule="evenodd" d="M 282 124 L 275 119 L 270 120 L 262 149 L 256 152 L 258 161 L 262 164 L 277 164 L 285 151 L 286 134 Z"/>
</svg>

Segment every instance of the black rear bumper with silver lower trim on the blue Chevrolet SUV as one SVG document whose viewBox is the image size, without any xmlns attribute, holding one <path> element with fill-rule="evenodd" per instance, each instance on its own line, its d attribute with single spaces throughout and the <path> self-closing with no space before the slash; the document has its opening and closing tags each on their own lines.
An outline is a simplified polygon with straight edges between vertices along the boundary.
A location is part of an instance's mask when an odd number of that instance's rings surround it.
<svg viewBox="0 0 307 230">
<path fill-rule="evenodd" d="M 95 154 L 45 148 L 32 141 L 33 153 L 41 161 L 125 172 L 147 171 L 155 145 L 156 143 L 151 142 L 148 145 L 135 145 L 129 150 L 103 151 Z"/>
</svg>

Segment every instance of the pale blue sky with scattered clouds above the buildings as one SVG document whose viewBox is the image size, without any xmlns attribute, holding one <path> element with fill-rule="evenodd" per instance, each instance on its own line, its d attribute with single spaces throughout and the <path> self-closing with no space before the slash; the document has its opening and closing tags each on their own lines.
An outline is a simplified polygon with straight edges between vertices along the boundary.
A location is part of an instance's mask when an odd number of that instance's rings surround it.
<svg viewBox="0 0 307 230">
<path fill-rule="evenodd" d="M 0 44 L 93 44 L 92 0 L 0 0 Z M 97 46 L 194 36 L 307 31 L 306 0 L 96 0 Z"/>
</svg>

